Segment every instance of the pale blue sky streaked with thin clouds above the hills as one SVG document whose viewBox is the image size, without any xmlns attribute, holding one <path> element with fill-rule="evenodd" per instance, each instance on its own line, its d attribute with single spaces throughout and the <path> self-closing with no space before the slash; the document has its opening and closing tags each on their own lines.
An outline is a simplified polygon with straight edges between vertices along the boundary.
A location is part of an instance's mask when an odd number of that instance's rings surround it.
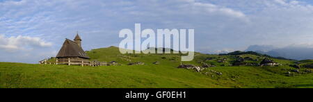
<svg viewBox="0 0 313 102">
<path fill-rule="evenodd" d="M 313 45 L 310 0 L 0 0 L 0 62 L 54 57 L 77 31 L 84 50 L 118 46 L 136 23 L 193 28 L 202 53 Z"/>
</svg>

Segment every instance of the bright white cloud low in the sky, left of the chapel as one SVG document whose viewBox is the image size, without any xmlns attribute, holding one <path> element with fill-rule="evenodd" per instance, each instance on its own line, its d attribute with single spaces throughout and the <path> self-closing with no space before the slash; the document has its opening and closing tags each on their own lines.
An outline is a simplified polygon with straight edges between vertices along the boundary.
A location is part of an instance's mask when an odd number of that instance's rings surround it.
<svg viewBox="0 0 313 102">
<path fill-rule="evenodd" d="M 20 50 L 34 49 L 35 47 L 52 46 L 51 42 L 45 42 L 40 37 L 29 37 L 19 35 L 17 37 L 6 37 L 0 35 L 0 49 L 5 51 L 15 52 Z"/>
</svg>

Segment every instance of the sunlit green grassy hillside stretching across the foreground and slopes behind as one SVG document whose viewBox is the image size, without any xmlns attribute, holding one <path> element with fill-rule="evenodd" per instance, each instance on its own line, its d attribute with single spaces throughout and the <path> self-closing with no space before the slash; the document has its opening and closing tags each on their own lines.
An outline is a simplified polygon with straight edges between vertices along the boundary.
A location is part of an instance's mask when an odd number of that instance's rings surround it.
<svg viewBox="0 0 313 102">
<path fill-rule="evenodd" d="M 313 87 L 313 60 L 282 60 L 280 66 L 260 67 L 268 56 L 254 53 L 207 55 L 195 53 L 191 62 L 211 67 L 200 72 L 179 69 L 179 54 L 120 54 L 117 47 L 87 51 L 92 60 L 115 66 L 80 67 L 0 62 L 0 87 Z M 245 59 L 235 65 L 239 59 Z M 128 65 L 143 62 L 144 65 Z M 158 62 L 154 65 L 153 62 Z M 300 69 L 294 67 L 299 65 Z"/>
</svg>

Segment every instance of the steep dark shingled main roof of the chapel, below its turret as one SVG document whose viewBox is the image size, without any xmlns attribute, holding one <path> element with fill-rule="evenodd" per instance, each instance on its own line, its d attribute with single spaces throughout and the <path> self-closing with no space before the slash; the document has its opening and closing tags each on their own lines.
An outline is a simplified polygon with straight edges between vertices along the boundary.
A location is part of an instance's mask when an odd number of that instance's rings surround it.
<svg viewBox="0 0 313 102">
<path fill-rule="evenodd" d="M 56 58 L 79 57 L 90 59 L 76 42 L 66 39 Z"/>
</svg>

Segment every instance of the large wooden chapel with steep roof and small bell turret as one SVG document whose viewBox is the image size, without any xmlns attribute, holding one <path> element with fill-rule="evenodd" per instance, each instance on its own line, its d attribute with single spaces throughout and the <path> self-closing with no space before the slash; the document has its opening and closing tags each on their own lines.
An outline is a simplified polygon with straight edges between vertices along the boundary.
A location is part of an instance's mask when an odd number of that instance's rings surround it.
<svg viewBox="0 0 313 102">
<path fill-rule="evenodd" d="M 81 37 L 78 33 L 74 41 L 65 39 L 56 56 L 57 65 L 89 65 L 89 57 L 81 48 Z"/>
</svg>

